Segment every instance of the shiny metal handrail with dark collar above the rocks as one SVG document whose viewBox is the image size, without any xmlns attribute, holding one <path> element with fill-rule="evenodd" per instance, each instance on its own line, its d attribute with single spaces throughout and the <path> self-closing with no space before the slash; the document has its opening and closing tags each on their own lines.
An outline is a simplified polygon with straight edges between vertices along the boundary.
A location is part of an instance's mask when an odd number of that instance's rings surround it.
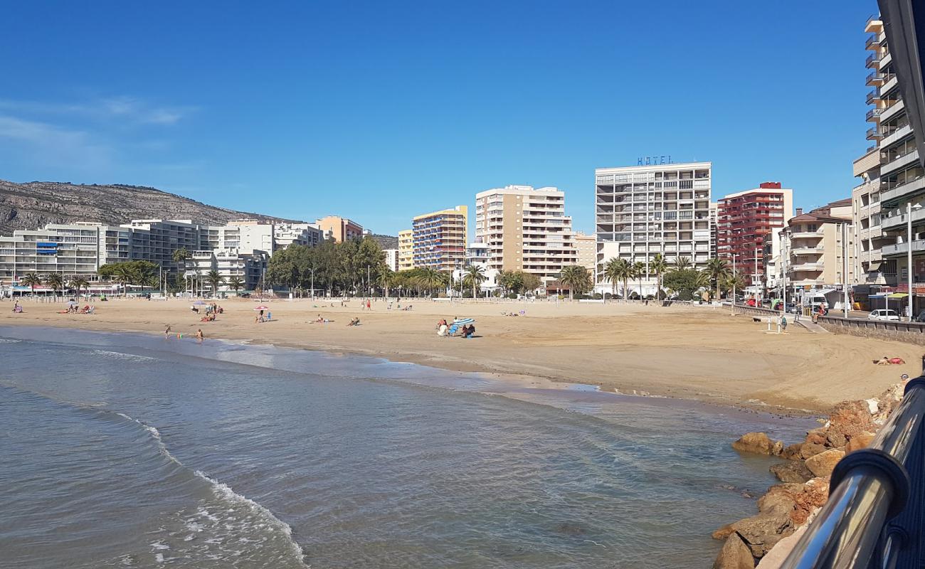
<svg viewBox="0 0 925 569">
<path fill-rule="evenodd" d="M 922 476 L 923 423 L 925 375 L 907 384 L 903 401 L 870 447 L 836 464 L 829 501 L 781 569 L 920 566 L 921 496 L 909 473 Z M 922 480 L 916 482 L 922 486 Z"/>
</svg>

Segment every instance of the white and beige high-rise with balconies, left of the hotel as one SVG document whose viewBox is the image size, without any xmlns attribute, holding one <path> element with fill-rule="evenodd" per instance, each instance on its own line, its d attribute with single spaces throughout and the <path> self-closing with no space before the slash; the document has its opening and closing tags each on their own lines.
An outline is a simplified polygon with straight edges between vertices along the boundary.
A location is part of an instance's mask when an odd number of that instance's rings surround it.
<svg viewBox="0 0 925 569">
<path fill-rule="evenodd" d="M 488 268 L 533 273 L 544 283 L 578 262 L 565 192 L 557 188 L 506 186 L 476 193 L 475 241 L 487 245 Z"/>
</svg>

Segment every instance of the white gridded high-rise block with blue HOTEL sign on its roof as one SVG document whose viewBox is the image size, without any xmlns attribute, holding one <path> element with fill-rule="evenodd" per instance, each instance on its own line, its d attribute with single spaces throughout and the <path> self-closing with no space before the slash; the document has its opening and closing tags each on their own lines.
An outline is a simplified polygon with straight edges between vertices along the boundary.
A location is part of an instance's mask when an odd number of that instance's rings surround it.
<svg viewBox="0 0 925 569">
<path fill-rule="evenodd" d="M 688 162 L 595 170 L 598 254 L 595 283 L 611 291 L 604 264 L 611 258 L 648 263 L 662 254 L 686 257 L 705 268 L 710 256 L 712 163 Z M 656 294 L 655 273 L 643 278 L 643 294 Z"/>
</svg>

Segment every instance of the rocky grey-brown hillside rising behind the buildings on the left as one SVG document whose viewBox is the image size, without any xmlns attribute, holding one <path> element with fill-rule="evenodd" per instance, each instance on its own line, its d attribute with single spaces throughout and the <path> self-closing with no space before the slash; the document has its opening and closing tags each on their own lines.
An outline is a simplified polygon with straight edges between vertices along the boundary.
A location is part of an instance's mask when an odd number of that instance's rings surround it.
<svg viewBox="0 0 925 569">
<path fill-rule="evenodd" d="M 292 221 L 203 204 L 173 193 L 141 186 L 86 185 L 0 179 L 0 235 L 14 229 L 39 229 L 49 223 L 97 221 L 120 225 L 129 219 L 192 219 L 220 225 L 243 217 Z"/>
</svg>

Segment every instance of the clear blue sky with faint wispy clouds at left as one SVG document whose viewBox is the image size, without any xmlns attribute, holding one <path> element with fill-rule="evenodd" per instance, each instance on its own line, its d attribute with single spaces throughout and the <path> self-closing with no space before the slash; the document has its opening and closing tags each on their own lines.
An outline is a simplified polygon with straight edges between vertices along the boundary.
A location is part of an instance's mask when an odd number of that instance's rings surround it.
<svg viewBox="0 0 925 569">
<path fill-rule="evenodd" d="M 639 8 L 638 6 L 642 6 Z M 593 229 L 595 167 L 847 197 L 873 0 L 18 2 L 0 179 L 149 185 L 396 234 L 507 184 Z"/>
</svg>

